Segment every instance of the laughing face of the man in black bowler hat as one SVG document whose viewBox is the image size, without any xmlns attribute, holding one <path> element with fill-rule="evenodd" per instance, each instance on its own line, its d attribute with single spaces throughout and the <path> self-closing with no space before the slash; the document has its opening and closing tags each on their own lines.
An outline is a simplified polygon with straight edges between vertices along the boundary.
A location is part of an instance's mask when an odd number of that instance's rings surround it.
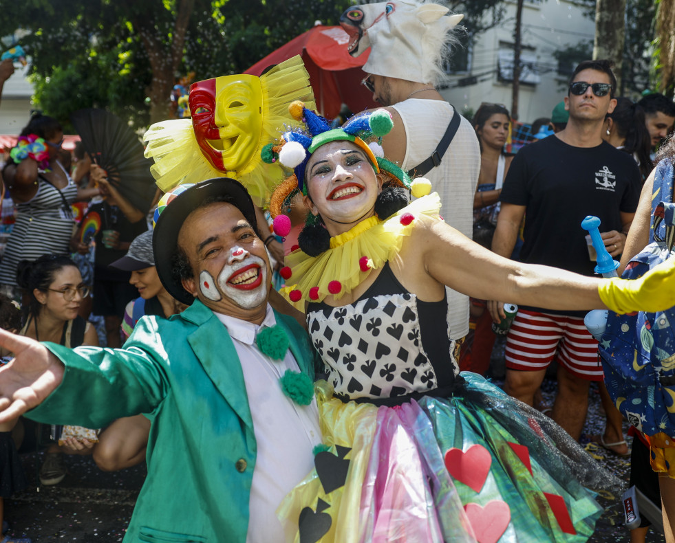
<svg viewBox="0 0 675 543">
<path fill-rule="evenodd" d="M 193 211 L 178 244 L 195 274 L 183 286 L 207 307 L 237 318 L 265 311 L 271 277 L 267 251 L 235 206 L 218 202 Z"/>
</svg>

